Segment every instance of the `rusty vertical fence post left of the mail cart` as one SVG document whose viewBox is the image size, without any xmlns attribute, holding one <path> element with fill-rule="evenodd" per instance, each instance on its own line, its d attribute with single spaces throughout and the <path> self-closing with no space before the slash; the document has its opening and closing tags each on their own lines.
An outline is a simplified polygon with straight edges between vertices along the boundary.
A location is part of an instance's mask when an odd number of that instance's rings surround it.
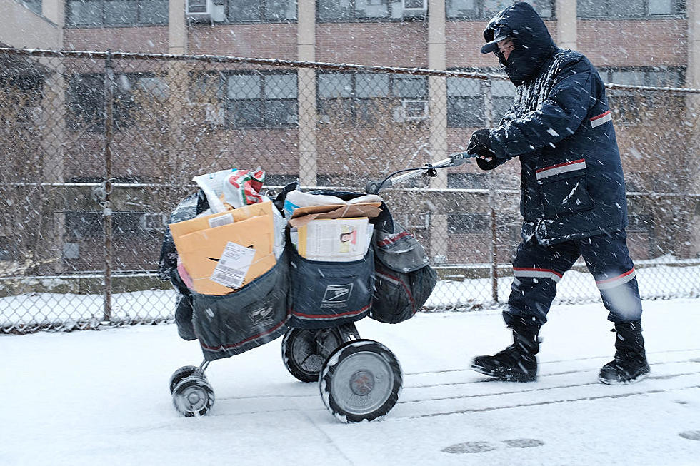
<svg viewBox="0 0 700 466">
<path fill-rule="evenodd" d="M 111 274 L 112 274 L 112 210 L 111 210 L 111 178 L 112 178 L 112 129 L 114 126 L 114 68 L 111 51 L 107 50 L 104 62 L 104 203 L 102 203 L 102 225 L 104 228 L 104 315 L 103 320 L 111 320 Z"/>
</svg>

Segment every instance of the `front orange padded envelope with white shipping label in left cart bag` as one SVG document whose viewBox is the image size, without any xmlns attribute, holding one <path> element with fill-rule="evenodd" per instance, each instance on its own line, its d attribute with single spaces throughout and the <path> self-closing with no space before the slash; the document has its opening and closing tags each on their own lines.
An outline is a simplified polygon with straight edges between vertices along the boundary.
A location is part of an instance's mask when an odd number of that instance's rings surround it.
<svg viewBox="0 0 700 466">
<path fill-rule="evenodd" d="M 205 295 L 232 293 L 266 273 L 276 263 L 273 246 L 271 211 L 270 215 L 179 235 L 176 242 L 194 290 Z"/>
</svg>

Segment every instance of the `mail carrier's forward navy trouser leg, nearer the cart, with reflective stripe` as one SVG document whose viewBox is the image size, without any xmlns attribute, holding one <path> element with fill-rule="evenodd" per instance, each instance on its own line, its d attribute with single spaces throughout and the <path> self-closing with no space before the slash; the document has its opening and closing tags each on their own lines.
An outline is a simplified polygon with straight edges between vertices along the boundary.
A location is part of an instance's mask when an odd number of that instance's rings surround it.
<svg viewBox="0 0 700 466">
<path fill-rule="evenodd" d="M 552 246 L 535 241 L 521 243 L 513 260 L 513 284 L 508 308 L 503 318 L 506 325 L 546 323 L 546 315 L 556 295 L 556 283 L 579 257 L 575 243 Z"/>
</svg>

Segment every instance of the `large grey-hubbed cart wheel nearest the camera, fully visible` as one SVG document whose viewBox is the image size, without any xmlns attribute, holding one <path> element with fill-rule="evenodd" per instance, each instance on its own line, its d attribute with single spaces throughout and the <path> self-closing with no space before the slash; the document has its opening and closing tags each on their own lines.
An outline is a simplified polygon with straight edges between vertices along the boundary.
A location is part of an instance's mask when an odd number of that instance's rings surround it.
<svg viewBox="0 0 700 466">
<path fill-rule="evenodd" d="M 326 408 L 342 422 L 371 421 L 386 415 L 401 392 L 401 365 L 389 348 L 374 340 L 354 340 L 329 356 L 319 377 Z"/>
</svg>

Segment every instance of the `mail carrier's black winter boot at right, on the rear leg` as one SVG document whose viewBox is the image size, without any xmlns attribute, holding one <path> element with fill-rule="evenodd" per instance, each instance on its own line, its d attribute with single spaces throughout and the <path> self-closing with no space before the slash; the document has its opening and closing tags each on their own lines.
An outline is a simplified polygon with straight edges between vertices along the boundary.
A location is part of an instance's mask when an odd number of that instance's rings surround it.
<svg viewBox="0 0 700 466">
<path fill-rule="evenodd" d="M 599 380 L 608 385 L 635 383 L 649 374 L 641 320 L 615 324 L 615 359 L 600 370 Z"/>
</svg>

